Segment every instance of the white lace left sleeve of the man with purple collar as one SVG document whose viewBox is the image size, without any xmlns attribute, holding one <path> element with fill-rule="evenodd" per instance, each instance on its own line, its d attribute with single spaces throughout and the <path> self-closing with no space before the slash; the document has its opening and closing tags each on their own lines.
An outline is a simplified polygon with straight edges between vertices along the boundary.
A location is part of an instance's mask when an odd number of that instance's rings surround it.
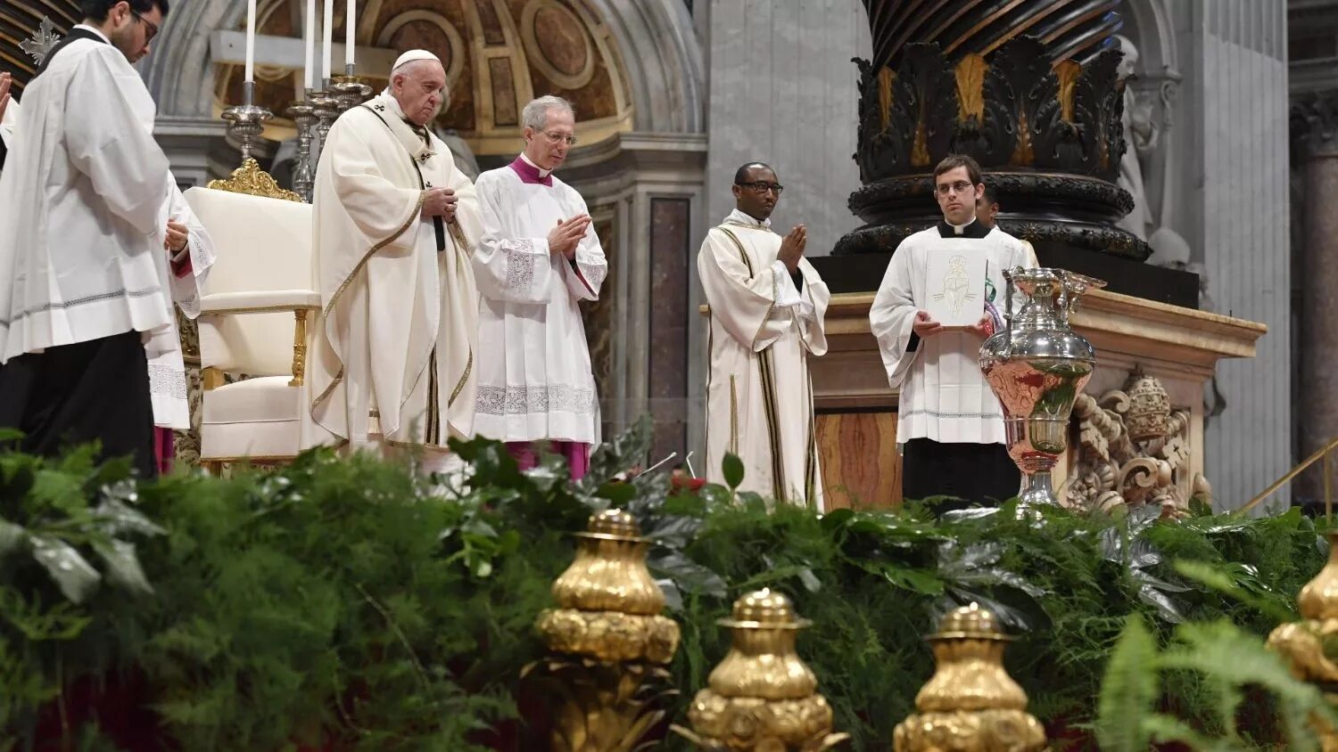
<svg viewBox="0 0 1338 752">
<path fill-rule="evenodd" d="M 504 303 L 547 303 L 553 278 L 547 234 L 507 236 L 502 218 L 512 216 L 514 211 L 502 195 L 503 186 L 487 182 L 476 187 L 483 215 L 483 236 L 474 248 L 479 295 Z"/>
</svg>

